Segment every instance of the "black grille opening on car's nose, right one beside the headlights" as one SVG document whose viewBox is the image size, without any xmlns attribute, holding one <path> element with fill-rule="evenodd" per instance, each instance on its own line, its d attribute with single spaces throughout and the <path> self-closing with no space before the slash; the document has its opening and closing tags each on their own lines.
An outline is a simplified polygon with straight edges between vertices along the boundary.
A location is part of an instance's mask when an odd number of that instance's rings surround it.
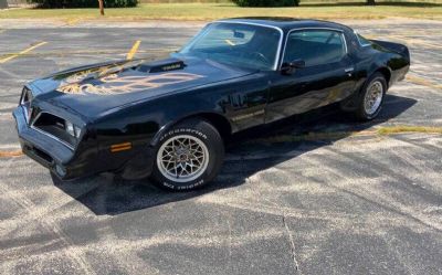
<svg viewBox="0 0 442 275">
<path fill-rule="evenodd" d="M 66 120 L 59 116 L 42 112 L 35 117 L 32 127 L 62 141 L 70 148 L 76 146 L 75 137 L 66 131 Z"/>
</svg>

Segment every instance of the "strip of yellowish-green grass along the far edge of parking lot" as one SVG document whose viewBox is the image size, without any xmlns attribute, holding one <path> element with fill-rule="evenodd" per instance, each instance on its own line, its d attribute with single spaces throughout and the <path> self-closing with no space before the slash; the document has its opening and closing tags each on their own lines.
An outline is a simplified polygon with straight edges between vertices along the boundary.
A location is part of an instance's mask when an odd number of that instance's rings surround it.
<svg viewBox="0 0 442 275">
<path fill-rule="evenodd" d="M 287 8 L 240 8 L 233 3 L 143 3 L 137 8 L 106 9 L 10 9 L 0 12 L 0 19 L 57 19 L 67 24 L 87 20 L 217 20 L 235 17 L 293 17 L 315 19 L 382 19 L 391 17 L 442 20 L 442 4 L 410 6 L 354 4 L 301 6 Z"/>
</svg>

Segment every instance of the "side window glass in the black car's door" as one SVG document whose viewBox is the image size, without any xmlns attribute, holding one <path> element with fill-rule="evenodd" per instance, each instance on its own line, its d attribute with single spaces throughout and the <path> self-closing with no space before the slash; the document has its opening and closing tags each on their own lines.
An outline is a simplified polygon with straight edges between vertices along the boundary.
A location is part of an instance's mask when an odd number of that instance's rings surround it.
<svg viewBox="0 0 442 275">
<path fill-rule="evenodd" d="M 329 30 L 294 31 L 287 38 L 284 62 L 305 61 L 306 66 L 339 62 L 346 54 L 343 33 Z"/>
</svg>

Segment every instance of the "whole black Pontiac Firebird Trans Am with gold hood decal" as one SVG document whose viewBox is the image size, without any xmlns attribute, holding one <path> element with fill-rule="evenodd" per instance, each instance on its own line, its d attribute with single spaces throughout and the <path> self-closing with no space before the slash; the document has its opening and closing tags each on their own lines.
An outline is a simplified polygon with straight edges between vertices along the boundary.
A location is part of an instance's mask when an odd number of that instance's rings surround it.
<svg viewBox="0 0 442 275">
<path fill-rule="evenodd" d="M 407 46 L 288 18 L 209 23 L 169 59 L 82 66 L 30 82 L 13 115 L 24 154 L 60 180 L 99 172 L 170 190 L 211 181 L 223 140 L 337 103 L 375 118 Z"/>
</svg>

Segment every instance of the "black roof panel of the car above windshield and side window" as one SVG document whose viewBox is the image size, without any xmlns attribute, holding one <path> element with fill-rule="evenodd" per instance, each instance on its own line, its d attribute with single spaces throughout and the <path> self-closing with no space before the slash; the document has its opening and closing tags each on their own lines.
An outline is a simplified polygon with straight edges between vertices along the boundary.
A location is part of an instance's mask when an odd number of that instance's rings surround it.
<svg viewBox="0 0 442 275">
<path fill-rule="evenodd" d="M 338 29 L 343 31 L 350 31 L 351 29 L 347 25 L 343 25 L 335 22 L 323 21 L 323 20 L 313 20 L 313 19 L 295 19 L 295 18 L 284 18 L 284 17 L 251 17 L 251 18 L 229 18 L 222 19 L 219 21 L 230 21 L 230 22 L 240 22 L 240 23 L 253 23 L 269 27 L 276 27 L 284 32 L 290 31 L 292 29 L 302 29 L 302 28 L 328 28 L 328 29 Z"/>
</svg>

